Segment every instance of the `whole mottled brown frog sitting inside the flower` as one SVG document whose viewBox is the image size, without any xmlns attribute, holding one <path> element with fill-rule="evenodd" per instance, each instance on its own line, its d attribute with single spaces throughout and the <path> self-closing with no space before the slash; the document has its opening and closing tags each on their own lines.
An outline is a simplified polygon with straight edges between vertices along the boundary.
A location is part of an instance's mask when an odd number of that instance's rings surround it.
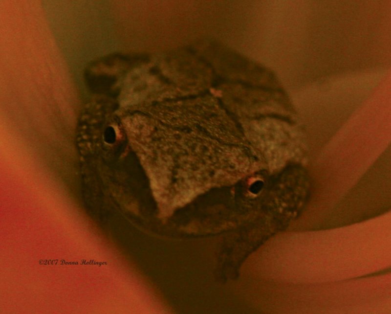
<svg viewBox="0 0 391 314">
<path fill-rule="evenodd" d="M 168 237 L 223 234 L 217 279 L 298 215 L 304 132 L 274 74 L 217 43 L 112 54 L 86 70 L 84 198 Z"/>
</svg>

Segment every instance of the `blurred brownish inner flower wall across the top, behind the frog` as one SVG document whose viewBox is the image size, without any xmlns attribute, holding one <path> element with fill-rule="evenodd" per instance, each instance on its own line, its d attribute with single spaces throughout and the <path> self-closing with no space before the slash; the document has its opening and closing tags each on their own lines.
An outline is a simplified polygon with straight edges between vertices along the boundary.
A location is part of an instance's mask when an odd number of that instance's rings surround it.
<svg viewBox="0 0 391 314">
<path fill-rule="evenodd" d="M 387 0 L 43 0 L 81 87 L 81 71 L 111 51 L 156 51 L 213 37 L 274 68 L 287 88 L 390 65 Z M 115 16 L 115 18 L 114 18 Z"/>
</svg>

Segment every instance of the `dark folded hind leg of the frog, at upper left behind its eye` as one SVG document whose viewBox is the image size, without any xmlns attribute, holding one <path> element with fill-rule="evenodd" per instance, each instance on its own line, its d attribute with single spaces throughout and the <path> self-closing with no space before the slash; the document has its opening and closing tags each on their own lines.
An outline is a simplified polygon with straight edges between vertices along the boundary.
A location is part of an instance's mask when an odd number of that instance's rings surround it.
<svg viewBox="0 0 391 314">
<path fill-rule="evenodd" d="M 109 54 L 86 67 L 84 76 L 87 86 L 92 93 L 116 96 L 119 78 L 130 68 L 148 61 L 149 55 L 145 53 Z"/>
</svg>

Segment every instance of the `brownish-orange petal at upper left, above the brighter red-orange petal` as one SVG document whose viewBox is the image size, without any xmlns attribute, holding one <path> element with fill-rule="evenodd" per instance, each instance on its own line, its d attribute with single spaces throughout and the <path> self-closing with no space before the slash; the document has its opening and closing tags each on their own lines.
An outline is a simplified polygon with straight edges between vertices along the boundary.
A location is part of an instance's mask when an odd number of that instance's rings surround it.
<svg viewBox="0 0 391 314">
<path fill-rule="evenodd" d="M 36 1 L 0 2 L 0 115 L 73 190 L 80 101 Z"/>
</svg>

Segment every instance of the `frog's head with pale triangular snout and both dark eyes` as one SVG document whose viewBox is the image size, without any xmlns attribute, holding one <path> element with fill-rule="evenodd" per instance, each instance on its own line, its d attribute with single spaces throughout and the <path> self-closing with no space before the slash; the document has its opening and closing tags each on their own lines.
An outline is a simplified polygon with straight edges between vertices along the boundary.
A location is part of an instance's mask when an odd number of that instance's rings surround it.
<svg viewBox="0 0 391 314">
<path fill-rule="evenodd" d="M 104 190 L 158 233 L 236 228 L 266 194 L 264 158 L 212 95 L 119 109 L 102 134 Z"/>
</svg>

